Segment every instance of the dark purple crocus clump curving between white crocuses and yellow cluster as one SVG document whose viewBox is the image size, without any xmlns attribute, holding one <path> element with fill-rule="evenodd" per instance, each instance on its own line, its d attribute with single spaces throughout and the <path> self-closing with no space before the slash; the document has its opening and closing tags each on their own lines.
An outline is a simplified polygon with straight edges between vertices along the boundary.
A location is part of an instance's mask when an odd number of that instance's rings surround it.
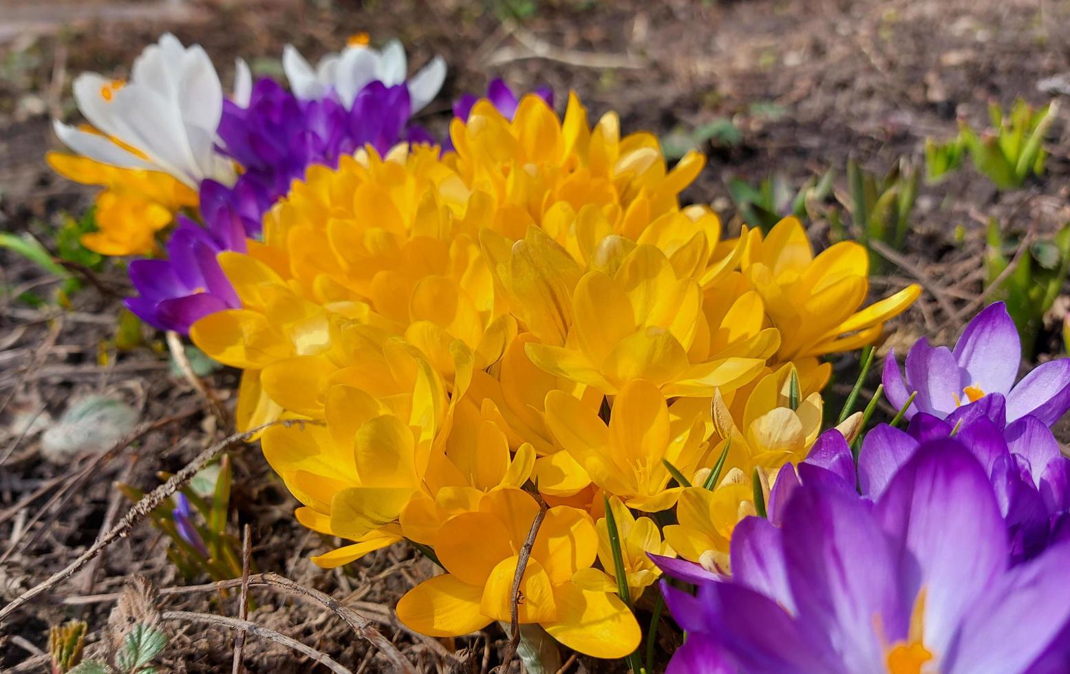
<svg viewBox="0 0 1070 674">
<path fill-rule="evenodd" d="M 401 140 L 433 142 L 424 129 L 407 126 L 409 114 L 409 89 L 379 81 L 365 86 L 348 109 L 335 96 L 300 101 L 266 78 L 247 105 L 225 102 L 219 138 L 244 171 L 233 187 L 201 183 L 204 225 L 180 217 L 166 259 L 131 263 L 139 294 L 126 306 L 160 330 L 183 334 L 209 313 L 241 307 L 216 256 L 244 252 L 246 238 L 260 236 L 263 214 L 309 166 L 337 167 L 342 155 L 365 145 L 382 154 Z"/>
</svg>

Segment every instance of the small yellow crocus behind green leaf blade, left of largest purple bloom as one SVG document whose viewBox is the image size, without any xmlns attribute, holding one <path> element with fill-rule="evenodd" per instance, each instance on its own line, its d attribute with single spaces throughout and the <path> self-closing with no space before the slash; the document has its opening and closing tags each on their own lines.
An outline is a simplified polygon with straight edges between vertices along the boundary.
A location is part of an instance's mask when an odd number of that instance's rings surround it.
<svg viewBox="0 0 1070 674">
<path fill-rule="evenodd" d="M 661 576 L 661 569 L 651 560 L 648 554 L 676 556 L 672 547 L 661 540 L 658 525 L 648 517 L 636 518 L 616 496 L 611 496 L 609 507 L 613 509 L 617 536 L 621 539 L 621 556 L 624 561 L 624 571 L 628 579 L 628 594 L 636 601 L 651 584 Z M 598 561 L 612 578 L 616 578 L 616 565 L 613 561 L 613 549 L 609 541 L 608 520 L 602 517 L 595 522 L 598 530 Z"/>
</svg>

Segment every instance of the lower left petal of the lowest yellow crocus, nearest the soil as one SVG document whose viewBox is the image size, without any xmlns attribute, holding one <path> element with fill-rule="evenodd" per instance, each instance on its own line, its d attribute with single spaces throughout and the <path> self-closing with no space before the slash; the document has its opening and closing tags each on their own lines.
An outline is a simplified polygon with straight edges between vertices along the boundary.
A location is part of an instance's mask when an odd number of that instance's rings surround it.
<svg viewBox="0 0 1070 674">
<path fill-rule="evenodd" d="M 431 637 L 460 637 L 490 625 L 479 612 L 483 584 L 470 585 L 450 575 L 437 576 L 398 600 L 398 619 Z"/>
</svg>

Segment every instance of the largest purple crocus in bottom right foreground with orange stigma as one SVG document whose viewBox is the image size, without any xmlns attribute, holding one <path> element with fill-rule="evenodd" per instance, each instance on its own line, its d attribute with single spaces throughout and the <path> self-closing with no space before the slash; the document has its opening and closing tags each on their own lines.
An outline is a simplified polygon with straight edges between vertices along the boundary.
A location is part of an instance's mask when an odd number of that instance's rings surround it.
<svg viewBox="0 0 1070 674">
<path fill-rule="evenodd" d="M 1011 566 L 985 470 L 952 440 L 927 443 L 875 502 L 804 480 L 780 525 L 749 517 L 732 576 L 658 557 L 687 632 L 669 674 L 1066 671 L 1070 541 Z"/>
</svg>

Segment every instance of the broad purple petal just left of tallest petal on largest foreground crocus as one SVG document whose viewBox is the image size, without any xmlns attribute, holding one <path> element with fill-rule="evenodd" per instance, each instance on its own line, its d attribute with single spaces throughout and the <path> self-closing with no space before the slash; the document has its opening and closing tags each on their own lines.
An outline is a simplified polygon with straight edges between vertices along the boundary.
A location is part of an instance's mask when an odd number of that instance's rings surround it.
<svg viewBox="0 0 1070 674">
<path fill-rule="evenodd" d="M 889 540 L 857 494 L 804 484 L 792 497 L 782 530 L 788 578 L 805 641 L 838 653 L 847 672 L 884 661 L 881 637 L 906 635 L 910 606 L 895 583 Z M 821 670 L 814 670 L 821 671 Z"/>
</svg>

